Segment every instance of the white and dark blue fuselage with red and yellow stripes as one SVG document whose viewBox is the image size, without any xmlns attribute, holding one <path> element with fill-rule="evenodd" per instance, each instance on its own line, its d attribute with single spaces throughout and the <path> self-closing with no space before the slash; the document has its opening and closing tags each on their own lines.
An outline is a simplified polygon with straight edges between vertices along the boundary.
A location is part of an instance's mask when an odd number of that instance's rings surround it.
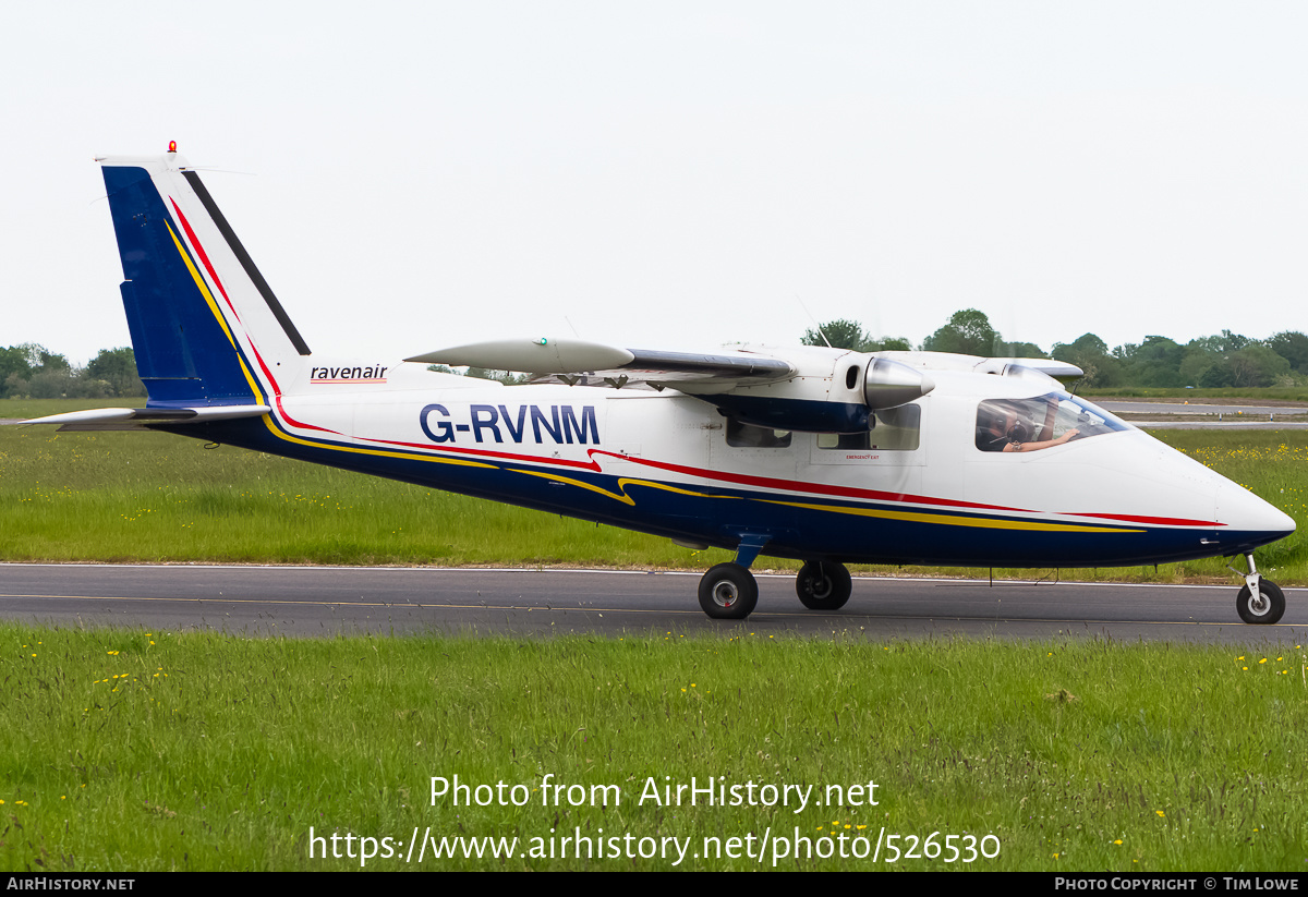
<svg viewBox="0 0 1308 897">
<path fill-rule="evenodd" d="M 505 387 L 412 367 L 305 386 L 275 398 L 258 438 L 241 435 L 249 421 L 225 438 L 689 543 L 748 536 L 793 557 L 1146 564 L 1249 550 L 1294 528 L 1126 425 L 1040 451 L 980 450 L 980 403 L 1048 391 L 1020 378 L 933 371 L 931 394 L 861 439 L 732 433 L 715 407 L 672 390 Z M 821 379 L 804 386 L 842 387 Z"/>
</svg>

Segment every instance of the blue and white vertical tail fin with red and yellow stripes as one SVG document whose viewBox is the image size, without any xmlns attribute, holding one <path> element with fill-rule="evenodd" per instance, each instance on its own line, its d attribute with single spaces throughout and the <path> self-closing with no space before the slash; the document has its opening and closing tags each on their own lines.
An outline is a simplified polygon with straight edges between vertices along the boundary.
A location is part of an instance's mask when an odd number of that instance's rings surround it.
<svg viewBox="0 0 1308 897">
<path fill-rule="evenodd" d="M 238 405 L 279 394 L 309 347 L 200 175 L 175 152 L 97 161 L 149 404 Z"/>
</svg>

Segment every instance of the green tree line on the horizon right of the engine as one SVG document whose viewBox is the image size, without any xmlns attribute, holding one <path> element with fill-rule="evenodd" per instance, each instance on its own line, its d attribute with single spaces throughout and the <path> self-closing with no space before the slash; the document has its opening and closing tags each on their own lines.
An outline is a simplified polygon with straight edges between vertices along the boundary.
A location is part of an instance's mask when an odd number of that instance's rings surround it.
<svg viewBox="0 0 1308 897">
<path fill-rule="evenodd" d="M 825 339 L 823 339 L 825 337 Z M 913 348 L 906 339 L 878 340 L 854 320 L 840 319 L 804 332 L 806 345 L 855 352 Z M 922 340 L 926 352 L 957 352 L 984 358 L 1056 358 L 1086 371 L 1087 387 L 1262 387 L 1308 386 L 1308 336 L 1282 331 L 1257 340 L 1228 330 L 1180 344 L 1165 336 L 1108 348 L 1095 333 L 1056 343 L 1045 352 L 1033 343 L 1010 343 L 976 309 L 955 311 L 948 323 Z"/>
</svg>

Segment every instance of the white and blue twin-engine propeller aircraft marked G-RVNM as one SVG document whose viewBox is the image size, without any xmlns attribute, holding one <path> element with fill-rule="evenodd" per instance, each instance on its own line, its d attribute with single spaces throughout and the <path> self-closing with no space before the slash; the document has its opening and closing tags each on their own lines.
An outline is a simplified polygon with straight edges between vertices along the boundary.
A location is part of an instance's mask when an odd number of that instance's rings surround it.
<svg viewBox="0 0 1308 897">
<path fill-rule="evenodd" d="M 735 550 L 698 598 L 755 608 L 760 554 L 803 561 L 836 611 L 845 564 L 1118 566 L 1243 554 L 1245 622 L 1282 591 L 1253 549 L 1294 520 L 1069 395 L 1048 360 L 828 348 L 693 354 L 522 339 L 402 361 L 313 354 L 200 175 L 175 153 L 97 160 L 145 408 L 55 415 L 150 429 Z M 415 347 L 420 348 L 420 347 Z M 530 371 L 534 382 L 428 365 Z"/>
</svg>

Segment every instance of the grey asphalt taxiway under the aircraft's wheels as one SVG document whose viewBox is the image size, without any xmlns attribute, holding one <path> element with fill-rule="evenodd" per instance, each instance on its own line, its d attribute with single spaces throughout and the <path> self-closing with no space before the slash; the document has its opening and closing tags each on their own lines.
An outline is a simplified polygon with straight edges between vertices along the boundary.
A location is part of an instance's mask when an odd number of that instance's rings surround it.
<svg viewBox="0 0 1308 897">
<path fill-rule="evenodd" d="M 1052 573 L 1052 571 L 1050 571 Z M 1036 574 L 1033 574 L 1036 575 Z M 804 609 L 794 575 L 760 574 L 755 613 L 709 620 L 698 573 L 0 564 L 0 617 L 250 637 L 352 633 L 858 638 L 1058 638 L 1222 643 L 1308 638 L 1308 588 L 1281 624 L 1249 626 L 1223 586 L 857 578 L 836 612 Z"/>
</svg>

